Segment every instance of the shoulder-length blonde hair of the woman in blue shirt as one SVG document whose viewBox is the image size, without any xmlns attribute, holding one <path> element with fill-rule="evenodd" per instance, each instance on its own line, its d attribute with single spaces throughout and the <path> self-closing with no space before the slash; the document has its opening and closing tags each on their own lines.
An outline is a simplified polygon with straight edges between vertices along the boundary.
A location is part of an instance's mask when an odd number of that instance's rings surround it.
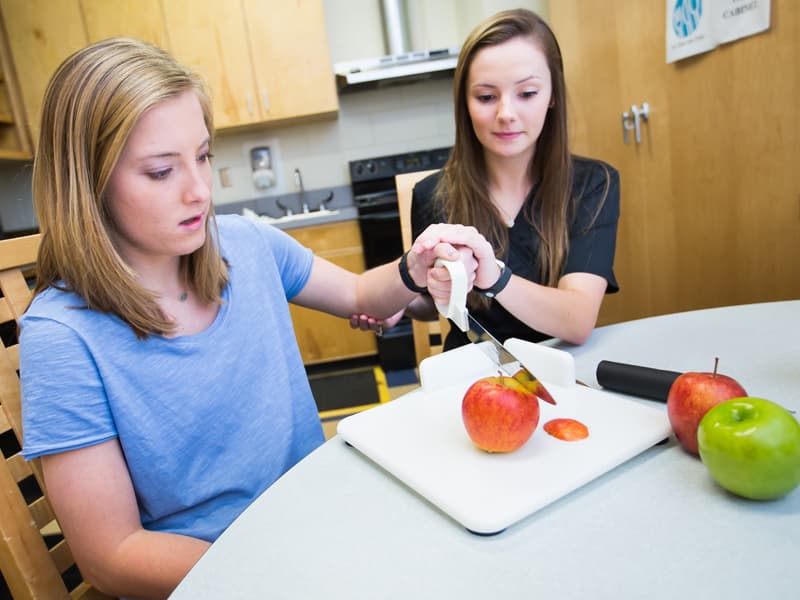
<svg viewBox="0 0 800 600">
<path fill-rule="evenodd" d="M 202 80 L 160 48 L 111 38 L 79 50 L 56 70 L 42 104 L 33 166 L 34 208 L 43 234 L 35 293 L 48 286 L 75 292 L 87 308 L 117 315 L 139 338 L 173 331 L 155 294 L 137 282 L 114 246 L 106 188 L 140 117 L 186 91 L 197 95 L 213 134 Z M 228 271 L 213 206 L 205 244 L 181 257 L 180 274 L 201 301 L 221 301 Z"/>
</svg>

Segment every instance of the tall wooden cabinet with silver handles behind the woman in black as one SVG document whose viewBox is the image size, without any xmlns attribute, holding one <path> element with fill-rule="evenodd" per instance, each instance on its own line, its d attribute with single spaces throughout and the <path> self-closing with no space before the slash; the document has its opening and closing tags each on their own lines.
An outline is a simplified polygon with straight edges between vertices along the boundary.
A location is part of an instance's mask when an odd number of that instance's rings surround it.
<svg viewBox="0 0 800 600">
<path fill-rule="evenodd" d="M 559 0 L 573 149 L 620 170 L 615 269 L 601 323 L 800 297 L 800 11 L 768 32 L 666 64 L 663 0 Z M 648 102 L 642 143 L 621 114 Z"/>
</svg>

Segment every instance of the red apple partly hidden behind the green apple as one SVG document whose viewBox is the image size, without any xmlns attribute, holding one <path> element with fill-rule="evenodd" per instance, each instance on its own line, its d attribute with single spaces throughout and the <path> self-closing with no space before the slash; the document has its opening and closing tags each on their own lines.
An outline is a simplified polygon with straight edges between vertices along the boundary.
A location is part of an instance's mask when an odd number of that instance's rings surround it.
<svg viewBox="0 0 800 600">
<path fill-rule="evenodd" d="M 705 414 L 720 402 L 747 396 L 738 381 L 717 373 L 688 372 L 679 375 L 667 394 L 667 415 L 678 441 L 694 455 L 697 450 L 697 427 Z"/>
</svg>

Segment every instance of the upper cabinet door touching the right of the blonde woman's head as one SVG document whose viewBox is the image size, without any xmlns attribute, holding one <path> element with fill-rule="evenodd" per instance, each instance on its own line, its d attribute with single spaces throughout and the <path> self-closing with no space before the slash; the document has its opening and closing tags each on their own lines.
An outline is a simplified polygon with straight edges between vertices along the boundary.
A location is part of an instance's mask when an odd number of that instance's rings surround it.
<svg viewBox="0 0 800 600">
<path fill-rule="evenodd" d="M 170 49 L 211 88 L 214 126 L 262 119 L 240 1 L 163 0 Z"/>
</svg>

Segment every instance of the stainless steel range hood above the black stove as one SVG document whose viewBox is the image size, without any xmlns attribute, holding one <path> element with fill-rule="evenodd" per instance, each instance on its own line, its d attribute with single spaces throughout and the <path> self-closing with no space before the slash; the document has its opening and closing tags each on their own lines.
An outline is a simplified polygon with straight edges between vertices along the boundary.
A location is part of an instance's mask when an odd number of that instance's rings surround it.
<svg viewBox="0 0 800 600">
<path fill-rule="evenodd" d="M 405 3 L 382 0 L 382 9 L 389 54 L 334 64 L 339 92 L 452 76 L 458 62 L 458 47 L 410 51 Z"/>
</svg>

